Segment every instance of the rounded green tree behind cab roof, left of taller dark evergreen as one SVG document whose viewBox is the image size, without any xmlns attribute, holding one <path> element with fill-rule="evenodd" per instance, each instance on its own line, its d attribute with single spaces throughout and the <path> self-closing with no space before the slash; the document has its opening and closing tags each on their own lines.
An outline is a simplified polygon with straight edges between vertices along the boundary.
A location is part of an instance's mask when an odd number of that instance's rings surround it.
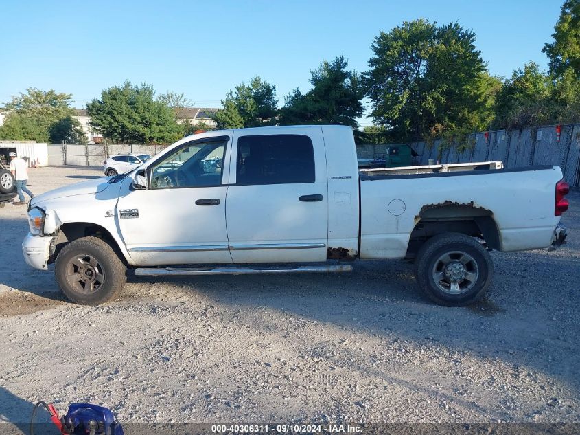
<svg viewBox="0 0 580 435">
<path fill-rule="evenodd" d="M 276 86 L 256 76 L 229 91 L 222 106 L 214 115 L 219 129 L 270 125 L 278 113 Z"/>
</svg>

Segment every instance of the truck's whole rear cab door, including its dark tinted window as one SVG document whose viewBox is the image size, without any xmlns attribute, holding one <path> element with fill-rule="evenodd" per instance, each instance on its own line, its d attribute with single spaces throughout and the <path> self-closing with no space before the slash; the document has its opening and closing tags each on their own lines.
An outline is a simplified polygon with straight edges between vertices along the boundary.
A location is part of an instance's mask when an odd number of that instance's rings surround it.
<svg viewBox="0 0 580 435">
<path fill-rule="evenodd" d="M 321 129 L 236 131 L 227 191 L 234 263 L 326 260 L 328 199 Z"/>
</svg>

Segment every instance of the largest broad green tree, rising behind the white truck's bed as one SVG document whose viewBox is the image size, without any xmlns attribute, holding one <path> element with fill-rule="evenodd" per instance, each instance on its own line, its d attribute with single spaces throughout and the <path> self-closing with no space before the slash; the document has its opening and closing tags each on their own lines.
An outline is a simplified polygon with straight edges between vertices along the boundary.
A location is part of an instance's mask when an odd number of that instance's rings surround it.
<svg viewBox="0 0 580 435">
<path fill-rule="evenodd" d="M 480 129 L 485 63 L 475 34 L 458 23 L 437 27 L 426 19 L 381 32 L 364 74 L 375 124 L 394 140 L 420 140 L 439 126 Z"/>
</svg>

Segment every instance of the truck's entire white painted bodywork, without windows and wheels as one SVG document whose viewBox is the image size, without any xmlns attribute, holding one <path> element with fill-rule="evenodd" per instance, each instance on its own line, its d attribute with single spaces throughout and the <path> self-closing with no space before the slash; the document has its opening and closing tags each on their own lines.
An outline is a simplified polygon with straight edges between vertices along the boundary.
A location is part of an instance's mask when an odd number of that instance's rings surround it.
<svg viewBox="0 0 580 435">
<path fill-rule="evenodd" d="M 246 157 L 238 155 L 238 141 L 267 135 L 310 138 L 314 181 L 242 185 L 237 163 Z M 192 141 L 217 137 L 228 138 L 218 185 L 132 188 L 141 171 L 154 168 L 165 156 Z M 397 175 L 382 170 L 359 175 L 350 127 L 212 131 L 184 137 L 121 181 L 95 179 L 34 197 L 30 208 L 46 214 L 44 237 L 29 235 L 23 252 L 30 265 L 46 269 L 50 247 L 46 241 L 62 225 L 90 223 L 110 233 L 134 266 L 402 258 L 421 221 L 421 210 L 445 203 L 486 210 L 497 225 L 501 250 L 535 249 L 550 245 L 559 223 L 559 216 L 554 216 L 559 179 L 557 167 Z M 303 195 L 321 199 L 304 202 L 299 200 Z M 219 203 L 200 206 L 198 199 Z"/>
</svg>

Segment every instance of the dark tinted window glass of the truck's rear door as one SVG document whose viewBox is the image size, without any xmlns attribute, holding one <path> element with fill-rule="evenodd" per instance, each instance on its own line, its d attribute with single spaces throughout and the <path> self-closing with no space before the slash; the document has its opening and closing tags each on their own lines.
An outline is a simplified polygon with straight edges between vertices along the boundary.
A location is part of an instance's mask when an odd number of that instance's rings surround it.
<svg viewBox="0 0 580 435">
<path fill-rule="evenodd" d="M 260 135 L 237 140 L 237 184 L 314 181 L 314 148 L 310 137 Z"/>
</svg>

